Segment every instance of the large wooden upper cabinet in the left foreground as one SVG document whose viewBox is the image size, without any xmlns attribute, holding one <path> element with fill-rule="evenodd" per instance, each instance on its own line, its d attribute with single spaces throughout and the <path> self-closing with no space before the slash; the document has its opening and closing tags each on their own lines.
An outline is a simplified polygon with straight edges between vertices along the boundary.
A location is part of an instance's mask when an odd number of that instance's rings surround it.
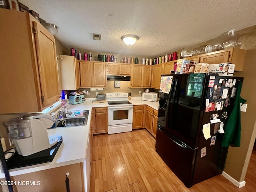
<svg viewBox="0 0 256 192">
<path fill-rule="evenodd" d="M 42 111 L 60 97 L 54 36 L 28 12 L 1 8 L 0 23 L 0 114 Z"/>
</svg>

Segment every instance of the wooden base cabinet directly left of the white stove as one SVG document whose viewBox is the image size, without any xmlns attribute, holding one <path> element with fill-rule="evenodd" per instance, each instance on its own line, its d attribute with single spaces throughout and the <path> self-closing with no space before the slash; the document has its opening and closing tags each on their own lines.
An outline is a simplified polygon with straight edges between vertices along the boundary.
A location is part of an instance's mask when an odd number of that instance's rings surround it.
<svg viewBox="0 0 256 192">
<path fill-rule="evenodd" d="M 97 107 L 92 108 L 95 118 L 93 122 L 93 134 L 107 133 L 108 132 L 108 108 Z M 93 116 L 93 114 L 92 114 Z"/>
</svg>

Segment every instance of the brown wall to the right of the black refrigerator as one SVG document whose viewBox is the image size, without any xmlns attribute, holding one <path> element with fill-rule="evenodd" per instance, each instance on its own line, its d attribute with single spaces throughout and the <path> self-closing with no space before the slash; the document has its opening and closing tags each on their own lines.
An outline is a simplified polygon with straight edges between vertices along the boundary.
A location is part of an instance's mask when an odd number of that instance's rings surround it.
<svg viewBox="0 0 256 192">
<path fill-rule="evenodd" d="M 246 175 L 246 170 L 254 145 L 256 129 L 256 50 L 247 50 L 243 71 L 235 72 L 234 76 L 244 77 L 241 97 L 247 100 L 246 112 L 241 112 L 241 145 L 240 147 L 230 147 L 224 171 L 239 182 L 242 182 Z"/>
</svg>

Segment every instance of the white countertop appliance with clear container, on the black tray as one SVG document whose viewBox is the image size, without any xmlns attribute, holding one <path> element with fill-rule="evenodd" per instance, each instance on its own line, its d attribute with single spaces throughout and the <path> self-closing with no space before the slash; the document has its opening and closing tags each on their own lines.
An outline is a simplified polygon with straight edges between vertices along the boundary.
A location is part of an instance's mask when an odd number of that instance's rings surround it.
<svg viewBox="0 0 256 192">
<path fill-rule="evenodd" d="M 50 148 L 47 128 L 55 119 L 46 113 L 30 113 L 4 122 L 18 154 L 28 156 Z"/>
</svg>

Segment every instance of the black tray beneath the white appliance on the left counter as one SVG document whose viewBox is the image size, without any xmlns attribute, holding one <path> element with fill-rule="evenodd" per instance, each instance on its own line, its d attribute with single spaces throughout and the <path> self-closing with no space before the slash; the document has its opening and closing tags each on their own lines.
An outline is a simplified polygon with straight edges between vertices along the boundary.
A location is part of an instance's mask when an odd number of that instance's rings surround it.
<svg viewBox="0 0 256 192">
<path fill-rule="evenodd" d="M 54 156 L 56 155 L 60 144 L 62 143 L 62 136 L 58 137 L 58 142 L 49 149 L 37 152 L 29 156 L 19 155 L 17 152 L 6 161 L 8 169 L 14 169 L 19 167 L 25 167 L 30 165 L 36 165 L 40 163 L 52 162 Z"/>
</svg>

